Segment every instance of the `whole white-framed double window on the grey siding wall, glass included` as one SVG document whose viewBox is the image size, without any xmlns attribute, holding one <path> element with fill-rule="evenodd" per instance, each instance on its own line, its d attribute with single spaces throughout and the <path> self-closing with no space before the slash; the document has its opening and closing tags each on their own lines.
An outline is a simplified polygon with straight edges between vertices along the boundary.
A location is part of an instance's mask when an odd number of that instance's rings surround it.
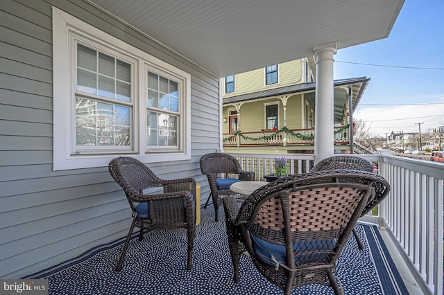
<svg viewBox="0 0 444 295">
<path fill-rule="evenodd" d="M 191 159 L 191 75 L 53 8 L 53 169 Z"/>
</svg>

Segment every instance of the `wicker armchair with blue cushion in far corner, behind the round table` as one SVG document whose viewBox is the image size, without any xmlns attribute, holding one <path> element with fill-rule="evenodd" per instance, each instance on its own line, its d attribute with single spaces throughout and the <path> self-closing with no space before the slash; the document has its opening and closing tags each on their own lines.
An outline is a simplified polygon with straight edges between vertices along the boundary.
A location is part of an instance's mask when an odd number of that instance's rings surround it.
<svg viewBox="0 0 444 295">
<path fill-rule="evenodd" d="M 211 193 L 208 196 L 205 208 L 210 197 L 213 197 L 214 211 L 218 220 L 218 210 L 221 206 L 221 196 L 232 195 L 230 185 L 236 181 L 255 180 L 255 172 L 242 170 L 236 158 L 230 154 L 216 152 L 205 154 L 200 158 L 200 170 L 207 175 Z"/>
</svg>

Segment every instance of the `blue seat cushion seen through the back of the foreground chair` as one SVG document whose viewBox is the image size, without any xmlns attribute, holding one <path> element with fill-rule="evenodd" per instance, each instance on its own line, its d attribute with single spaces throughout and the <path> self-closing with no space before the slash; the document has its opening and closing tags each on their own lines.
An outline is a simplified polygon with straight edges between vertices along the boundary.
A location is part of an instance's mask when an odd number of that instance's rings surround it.
<svg viewBox="0 0 444 295">
<path fill-rule="evenodd" d="M 266 262 L 268 265 L 275 265 L 276 263 L 271 260 L 271 255 L 275 257 L 275 260 L 278 262 L 287 265 L 287 251 L 285 251 L 285 247 L 280 244 L 273 244 L 271 242 L 266 242 L 265 240 L 257 238 L 255 235 L 250 235 L 253 241 L 253 251 L 257 257 L 259 257 L 262 261 Z M 334 243 L 336 244 L 336 243 Z M 302 242 L 302 243 L 294 243 L 293 251 L 316 251 L 316 250 L 327 250 L 333 249 L 334 245 L 330 242 L 330 240 L 316 240 L 311 242 Z M 300 250 L 302 249 L 302 250 Z M 296 254 L 296 253 L 295 253 Z M 295 262 L 296 265 L 299 265 L 302 260 L 307 260 L 307 254 L 296 255 Z M 327 255 L 323 254 L 321 256 L 323 259 L 327 259 Z M 316 260 L 319 260 L 317 257 Z M 307 262 L 307 261 L 305 261 Z"/>
</svg>

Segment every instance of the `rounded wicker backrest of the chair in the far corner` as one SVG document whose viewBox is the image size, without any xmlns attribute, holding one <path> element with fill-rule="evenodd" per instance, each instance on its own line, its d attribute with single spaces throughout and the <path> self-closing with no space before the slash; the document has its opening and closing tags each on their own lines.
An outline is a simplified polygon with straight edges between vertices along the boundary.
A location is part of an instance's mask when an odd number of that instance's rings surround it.
<svg viewBox="0 0 444 295">
<path fill-rule="evenodd" d="M 220 173 L 239 173 L 241 166 L 236 158 L 223 152 L 205 154 L 200 158 L 200 170 L 204 175 Z"/>
</svg>

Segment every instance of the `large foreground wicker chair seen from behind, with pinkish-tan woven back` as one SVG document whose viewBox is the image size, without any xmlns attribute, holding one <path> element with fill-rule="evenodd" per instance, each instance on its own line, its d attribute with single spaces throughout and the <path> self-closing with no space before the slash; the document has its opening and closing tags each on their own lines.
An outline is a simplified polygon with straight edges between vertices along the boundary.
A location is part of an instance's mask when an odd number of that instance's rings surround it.
<svg viewBox="0 0 444 295">
<path fill-rule="evenodd" d="M 259 272 L 284 294 L 312 283 L 343 294 L 334 277 L 336 260 L 368 199 L 383 199 L 388 190 L 387 181 L 370 172 L 325 170 L 266 184 L 240 208 L 234 196 L 224 198 L 234 282 L 241 253 L 248 251 Z"/>
</svg>

